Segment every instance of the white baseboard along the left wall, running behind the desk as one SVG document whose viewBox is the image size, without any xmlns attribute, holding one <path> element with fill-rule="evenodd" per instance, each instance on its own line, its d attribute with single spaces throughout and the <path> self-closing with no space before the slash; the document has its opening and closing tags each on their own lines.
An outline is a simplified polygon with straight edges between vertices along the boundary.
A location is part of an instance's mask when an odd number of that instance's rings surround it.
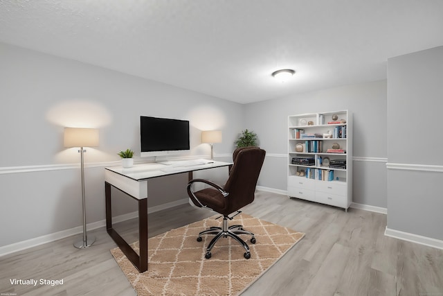
<svg viewBox="0 0 443 296">
<path fill-rule="evenodd" d="M 163 209 L 169 209 L 171 207 L 177 207 L 181 204 L 186 204 L 188 202 L 188 198 L 183 198 L 181 200 L 176 200 L 174 202 L 168 202 L 166 204 L 160 204 L 155 207 L 150 207 L 147 210 L 148 214 L 154 213 L 156 211 L 161 211 Z M 112 218 L 113 223 L 123 222 L 125 220 L 130 220 L 138 217 L 138 211 L 134 211 L 132 213 L 123 214 L 120 216 L 116 216 Z M 87 224 L 87 230 L 98 229 L 100 227 L 106 226 L 106 220 L 100 220 L 93 223 Z M 21 250 L 28 249 L 30 247 L 36 247 L 37 245 L 42 245 L 44 243 L 51 243 L 52 241 L 58 241 L 59 239 L 66 238 L 68 236 L 74 236 L 77 234 L 83 233 L 83 226 L 73 227 L 71 229 L 62 230 L 60 232 L 54 232 L 53 234 L 46 234 L 44 236 L 39 236 L 36 238 L 30 238 L 26 241 L 19 241 L 18 243 L 12 243 L 10 245 L 4 245 L 0 247 L 0 257 L 11 254 L 14 252 L 18 252 Z"/>
</svg>

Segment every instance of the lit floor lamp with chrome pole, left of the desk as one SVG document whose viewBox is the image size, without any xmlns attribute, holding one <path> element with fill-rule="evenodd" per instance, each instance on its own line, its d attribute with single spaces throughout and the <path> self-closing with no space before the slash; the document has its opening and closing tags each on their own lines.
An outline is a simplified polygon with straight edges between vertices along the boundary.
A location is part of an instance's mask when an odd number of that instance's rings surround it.
<svg viewBox="0 0 443 296">
<path fill-rule="evenodd" d="M 96 238 L 87 237 L 86 233 L 86 204 L 84 198 L 84 161 L 83 154 L 86 150 L 83 147 L 98 146 L 98 129 L 96 128 L 64 128 L 64 147 L 80 147 L 80 170 L 82 173 L 82 205 L 83 205 L 83 239 L 74 243 L 74 247 L 82 249 L 91 246 Z"/>
</svg>

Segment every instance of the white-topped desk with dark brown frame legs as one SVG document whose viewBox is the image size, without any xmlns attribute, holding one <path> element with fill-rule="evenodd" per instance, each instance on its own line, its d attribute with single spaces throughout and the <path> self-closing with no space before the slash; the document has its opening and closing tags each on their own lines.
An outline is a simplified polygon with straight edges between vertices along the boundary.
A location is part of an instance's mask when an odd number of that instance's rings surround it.
<svg viewBox="0 0 443 296">
<path fill-rule="evenodd" d="M 114 166 L 105 168 L 105 204 L 106 204 L 106 229 L 114 239 L 120 250 L 127 256 L 139 272 L 147 270 L 147 180 L 154 177 L 163 177 L 179 173 L 188 173 L 192 179 L 193 171 L 206 170 L 232 166 L 229 162 L 214 162 L 208 160 L 206 164 L 195 166 L 175 166 L 159 163 L 136 164 L 132 168 Z M 166 171 L 168 169 L 168 171 Z M 163 171 L 162 171 L 163 170 Z M 123 191 L 126 195 L 138 201 L 138 236 L 140 254 L 137 254 L 131 246 L 112 227 L 111 209 L 111 186 Z"/>
</svg>

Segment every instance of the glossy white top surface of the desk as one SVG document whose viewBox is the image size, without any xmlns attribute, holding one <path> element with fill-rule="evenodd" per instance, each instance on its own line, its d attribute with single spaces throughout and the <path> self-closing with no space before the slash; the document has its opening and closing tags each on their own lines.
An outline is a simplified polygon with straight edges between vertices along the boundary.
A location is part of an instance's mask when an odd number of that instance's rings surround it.
<svg viewBox="0 0 443 296">
<path fill-rule="evenodd" d="M 165 175 L 174 175 L 178 173 L 187 173 L 190 171 L 204 170 L 206 168 L 218 168 L 221 166 L 232 165 L 232 163 L 230 162 L 216 162 L 208 159 L 205 159 L 204 164 L 197 164 L 192 166 L 180 166 L 179 163 L 180 161 L 173 162 L 172 164 L 161 164 L 157 162 L 152 162 L 147 164 L 135 164 L 134 166 L 132 166 L 132 168 L 123 168 L 122 166 L 111 166 L 106 169 L 111 172 L 117 173 L 119 175 L 128 177 L 132 180 L 142 181 Z"/>
</svg>

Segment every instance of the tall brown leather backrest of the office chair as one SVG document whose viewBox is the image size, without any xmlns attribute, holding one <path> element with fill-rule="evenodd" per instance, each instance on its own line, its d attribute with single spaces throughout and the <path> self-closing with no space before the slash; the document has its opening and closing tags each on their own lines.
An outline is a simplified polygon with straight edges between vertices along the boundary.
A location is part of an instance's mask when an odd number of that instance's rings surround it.
<svg viewBox="0 0 443 296">
<path fill-rule="evenodd" d="M 224 190 L 229 193 L 227 212 L 232 213 L 253 202 L 265 155 L 266 151 L 257 147 L 242 147 L 234 151 L 234 164 L 224 185 Z"/>
</svg>

